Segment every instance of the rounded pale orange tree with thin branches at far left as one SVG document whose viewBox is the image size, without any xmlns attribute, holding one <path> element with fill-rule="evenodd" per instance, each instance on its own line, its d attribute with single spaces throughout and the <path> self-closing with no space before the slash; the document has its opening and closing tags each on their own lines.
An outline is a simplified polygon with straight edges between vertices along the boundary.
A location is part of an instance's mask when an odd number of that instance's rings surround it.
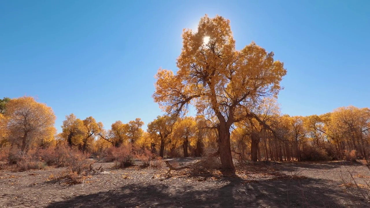
<svg viewBox="0 0 370 208">
<path fill-rule="evenodd" d="M 5 116 L 7 132 L 13 142 L 21 142 L 23 152 L 27 152 L 33 142 L 50 140 L 56 133 L 53 110 L 33 97 L 11 99 L 6 104 Z"/>
</svg>

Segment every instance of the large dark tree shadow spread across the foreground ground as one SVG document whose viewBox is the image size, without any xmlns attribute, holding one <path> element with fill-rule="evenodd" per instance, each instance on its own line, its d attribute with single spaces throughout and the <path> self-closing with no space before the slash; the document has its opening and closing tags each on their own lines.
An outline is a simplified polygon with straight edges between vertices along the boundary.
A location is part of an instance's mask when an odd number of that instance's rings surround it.
<svg viewBox="0 0 370 208">
<path fill-rule="evenodd" d="M 80 195 L 48 207 L 348 207 L 349 197 L 325 180 L 226 181 L 221 187 L 174 182 L 129 184 L 120 189 Z M 361 202 L 360 203 L 364 203 Z M 354 207 L 354 206 L 353 206 Z M 356 206 L 357 207 L 357 206 Z M 360 207 L 364 207 L 360 205 Z"/>
</svg>

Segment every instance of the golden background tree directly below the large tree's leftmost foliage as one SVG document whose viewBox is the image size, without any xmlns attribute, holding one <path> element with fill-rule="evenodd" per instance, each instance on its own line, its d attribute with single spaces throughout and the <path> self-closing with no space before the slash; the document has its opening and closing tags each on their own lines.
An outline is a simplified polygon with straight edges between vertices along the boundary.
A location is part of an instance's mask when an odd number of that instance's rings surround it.
<svg viewBox="0 0 370 208">
<path fill-rule="evenodd" d="M 168 115 L 158 115 L 157 119 L 148 124 L 148 132 L 151 134 L 154 140 L 159 140 L 157 143 L 160 143 L 159 156 L 164 157 L 165 145 L 171 139 L 171 133 L 174 123 L 176 122 L 177 117 L 168 116 Z"/>
</svg>

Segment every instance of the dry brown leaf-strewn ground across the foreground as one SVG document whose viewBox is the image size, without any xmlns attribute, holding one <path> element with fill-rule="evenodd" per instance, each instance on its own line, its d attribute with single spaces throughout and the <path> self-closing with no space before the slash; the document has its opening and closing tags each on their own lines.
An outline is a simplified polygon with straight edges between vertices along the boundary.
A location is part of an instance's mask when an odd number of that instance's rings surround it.
<svg viewBox="0 0 370 208">
<path fill-rule="evenodd" d="M 192 159 L 174 159 L 186 164 Z M 281 162 L 238 168 L 238 177 L 189 176 L 167 168 L 105 169 L 82 184 L 63 185 L 48 178 L 65 168 L 0 172 L 0 207 L 366 207 L 361 195 L 347 194 L 351 172 L 361 184 L 370 171 L 342 162 Z M 217 172 L 216 172 L 217 173 Z"/>
</svg>

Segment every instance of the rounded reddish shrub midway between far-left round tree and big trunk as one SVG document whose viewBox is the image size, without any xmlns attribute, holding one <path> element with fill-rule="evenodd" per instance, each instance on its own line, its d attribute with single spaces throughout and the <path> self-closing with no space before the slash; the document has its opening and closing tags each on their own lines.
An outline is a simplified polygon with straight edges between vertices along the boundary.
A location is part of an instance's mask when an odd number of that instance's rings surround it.
<svg viewBox="0 0 370 208">
<path fill-rule="evenodd" d="M 115 166 L 119 168 L 126 168 L 134 165 L 134 158 L 135 153 L 130 144 L 109 148 L 106 157 L 108 161 L 114 161 Z"/>
</svg>

